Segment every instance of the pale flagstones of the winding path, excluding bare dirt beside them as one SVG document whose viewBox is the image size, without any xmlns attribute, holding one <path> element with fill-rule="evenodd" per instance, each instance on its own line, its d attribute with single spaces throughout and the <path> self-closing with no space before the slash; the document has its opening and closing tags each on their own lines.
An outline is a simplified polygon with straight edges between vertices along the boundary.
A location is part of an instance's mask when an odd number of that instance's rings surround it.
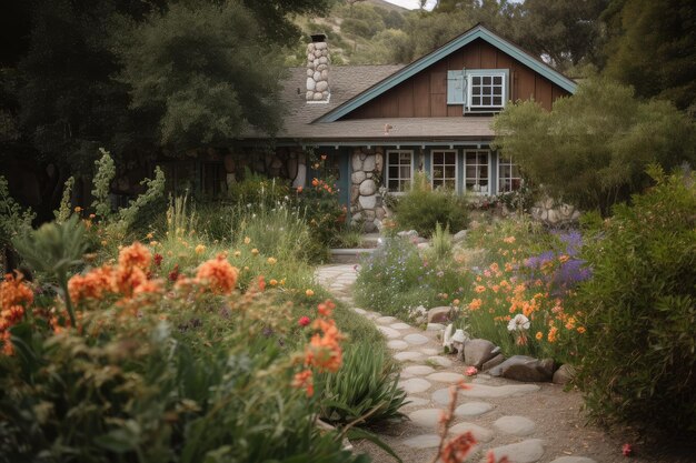
<svg viewBox="0 0 696 463">
<path fill-rule="evenodd" d="M 325 265 L 317 270 L 317 281 L 349 305 L 352 302 L 350 286 L 356 278 L 357 270 L 352 264 Z M 422 331 L 394 316 L 359 308 L 352 310 L 375 322 L 394 358 L 404 364 L 399 386 L 406 391 L 406 400 L 410 403 L 401 411 L 409 421 L 390 424 L 387 426 L 389 432 L 379 437 L 405 462 L 432 460 L 440 442 L 439 420 L 450 402 L 449 386 L 465 381 L 468 389 L 459 390 L 457 394 L 458 406 L 449 433 L 455 436 L 470 431 L 478 441 L 467 462 L 485 460 L 493 451 L 497 459 L 507 455 L 510 463 L 596 463 L 586 456 L 568 455 L 568 452 L 559 451 L 558 445 L 551 453 L 548 451 L 551 442 L 535 437 L 539 432 L 537 424 L 548 424 L 535 423 L 524 416 L 524 410 L 526 404 L 528 407 L 543 406 L 537 405 L 543 403 L 538 384 L 487 374 L 466 379 L 463 374 L 465 365 L 454 356 L 441 354 L 438 336 L 441 336 L 443 326 L 430 324 Z"/>
</svg>

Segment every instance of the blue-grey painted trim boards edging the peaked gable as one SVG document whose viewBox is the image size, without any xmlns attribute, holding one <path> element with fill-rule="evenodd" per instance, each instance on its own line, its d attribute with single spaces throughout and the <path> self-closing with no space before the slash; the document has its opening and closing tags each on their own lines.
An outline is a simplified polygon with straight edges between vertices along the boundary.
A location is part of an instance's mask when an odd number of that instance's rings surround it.
<svg viewBox="0 0 696 463">
<path fill-rule="evenodd" d="M 477 39 L 481 39 L 490 43 L 491 46 L 496 47 L 500 51 L 509 54 L 517 61 L 529 67 L 535 72 L 550 80 L 551 82 L 554 82 L 561 89 L 570 93 L 575 93 L 577 84 L 573 80 L 568 79 L 567 77 L 556 71 L 555 69 L 544 63 L 543 61 L 536 59 L 531 54 L 527 53 L 525 50 L 515 46 L 514 43 L 489 31 L 484 26 L 476 24 L 468 31 L 464 32 L 461 36 L 453 39 L 448 43 L 445 43 L 443 47 L 438 48 L 431 53 L 426 54 L 425 57 L 401 68 L 399 71 L 395 72 L 394 74 L 387 77 L 386 79 L 381 80 L 380 82 L 376 83 L 375 85 L 370 87 L 364 92 L 344 102 L 338 108 L 329 110 L 321 117 L 317 118 L 314 122 L 337 121 L 338 119 L 356 110 L 357 108 L 361 107 L 368 101 L 379 97 L 380 94 L 385 93 L 389 89 L 398 85 L 405 80 L 411 78 L 412 76 L 417 74 L 418 72 L 428 68 L 429 66 L 436 63 L 437 61 L 441 60 L 448 54 L 457 51 L 458 49 L 471 43 L 474 40 L 477 40 Z"/>
</svg>

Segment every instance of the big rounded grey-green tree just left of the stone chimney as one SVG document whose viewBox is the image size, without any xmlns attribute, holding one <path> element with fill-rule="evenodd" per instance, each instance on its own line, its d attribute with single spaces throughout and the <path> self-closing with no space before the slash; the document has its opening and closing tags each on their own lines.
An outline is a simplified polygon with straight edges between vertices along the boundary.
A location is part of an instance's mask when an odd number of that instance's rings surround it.
<svg viewBox="0 0 696 463">
<path fill-rule="evenodd" d="M 131 109 L 155 114 L 159 143 L 221 144 L 249 125 L 280 127 L 279 53 L 242 4 L 173 3 L 122 37 L 118 81 Z"/>
</svg>

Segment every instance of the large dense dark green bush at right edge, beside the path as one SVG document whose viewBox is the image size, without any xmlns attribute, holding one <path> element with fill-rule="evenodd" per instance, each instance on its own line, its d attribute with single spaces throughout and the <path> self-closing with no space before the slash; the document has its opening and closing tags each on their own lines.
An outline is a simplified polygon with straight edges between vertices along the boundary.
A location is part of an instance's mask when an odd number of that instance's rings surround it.
<svg viewBox="0 0 696 463">
<path fill-rule="evenodd" d="M 594 278 L 577 384 L 593 415 L 649 435 L 696 435 L 696 175 L 665 175 L 618 205 L 583 253 Z M 646 227 L 647 225 L 647 227 Z"/>
</svg>

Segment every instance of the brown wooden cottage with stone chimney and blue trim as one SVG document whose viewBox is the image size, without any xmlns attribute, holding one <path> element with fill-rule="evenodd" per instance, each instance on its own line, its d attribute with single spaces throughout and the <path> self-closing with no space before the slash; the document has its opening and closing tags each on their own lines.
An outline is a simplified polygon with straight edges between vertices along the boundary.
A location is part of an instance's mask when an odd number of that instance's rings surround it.
<svg viewBox="0 0 696 463">
<path fill-rule="evenodd" d="M 517 167 L 490 149 L 494 114 L 534 98 L 544 108 L 576 83 L 484 26 L 476 26 L 408 66 L 331 67 L 325 36 L 312 36 L 306 68 L 289 71 L 289 108 L 274 150 L 249 132 L 225 155 L 233 178 L 240 163 L 305 185 L 316 172 L 307 150 L 327 157 L 341 201 L 372 231 L 385 215 L 382 195 L 402 194 L 416 170 L 434 188 L 493 195 L 519 187 Z M 205 170 L 205 167 L 203 167 Z M 217 175 L 217 177 L 216 177 Z"/>
</svg>

